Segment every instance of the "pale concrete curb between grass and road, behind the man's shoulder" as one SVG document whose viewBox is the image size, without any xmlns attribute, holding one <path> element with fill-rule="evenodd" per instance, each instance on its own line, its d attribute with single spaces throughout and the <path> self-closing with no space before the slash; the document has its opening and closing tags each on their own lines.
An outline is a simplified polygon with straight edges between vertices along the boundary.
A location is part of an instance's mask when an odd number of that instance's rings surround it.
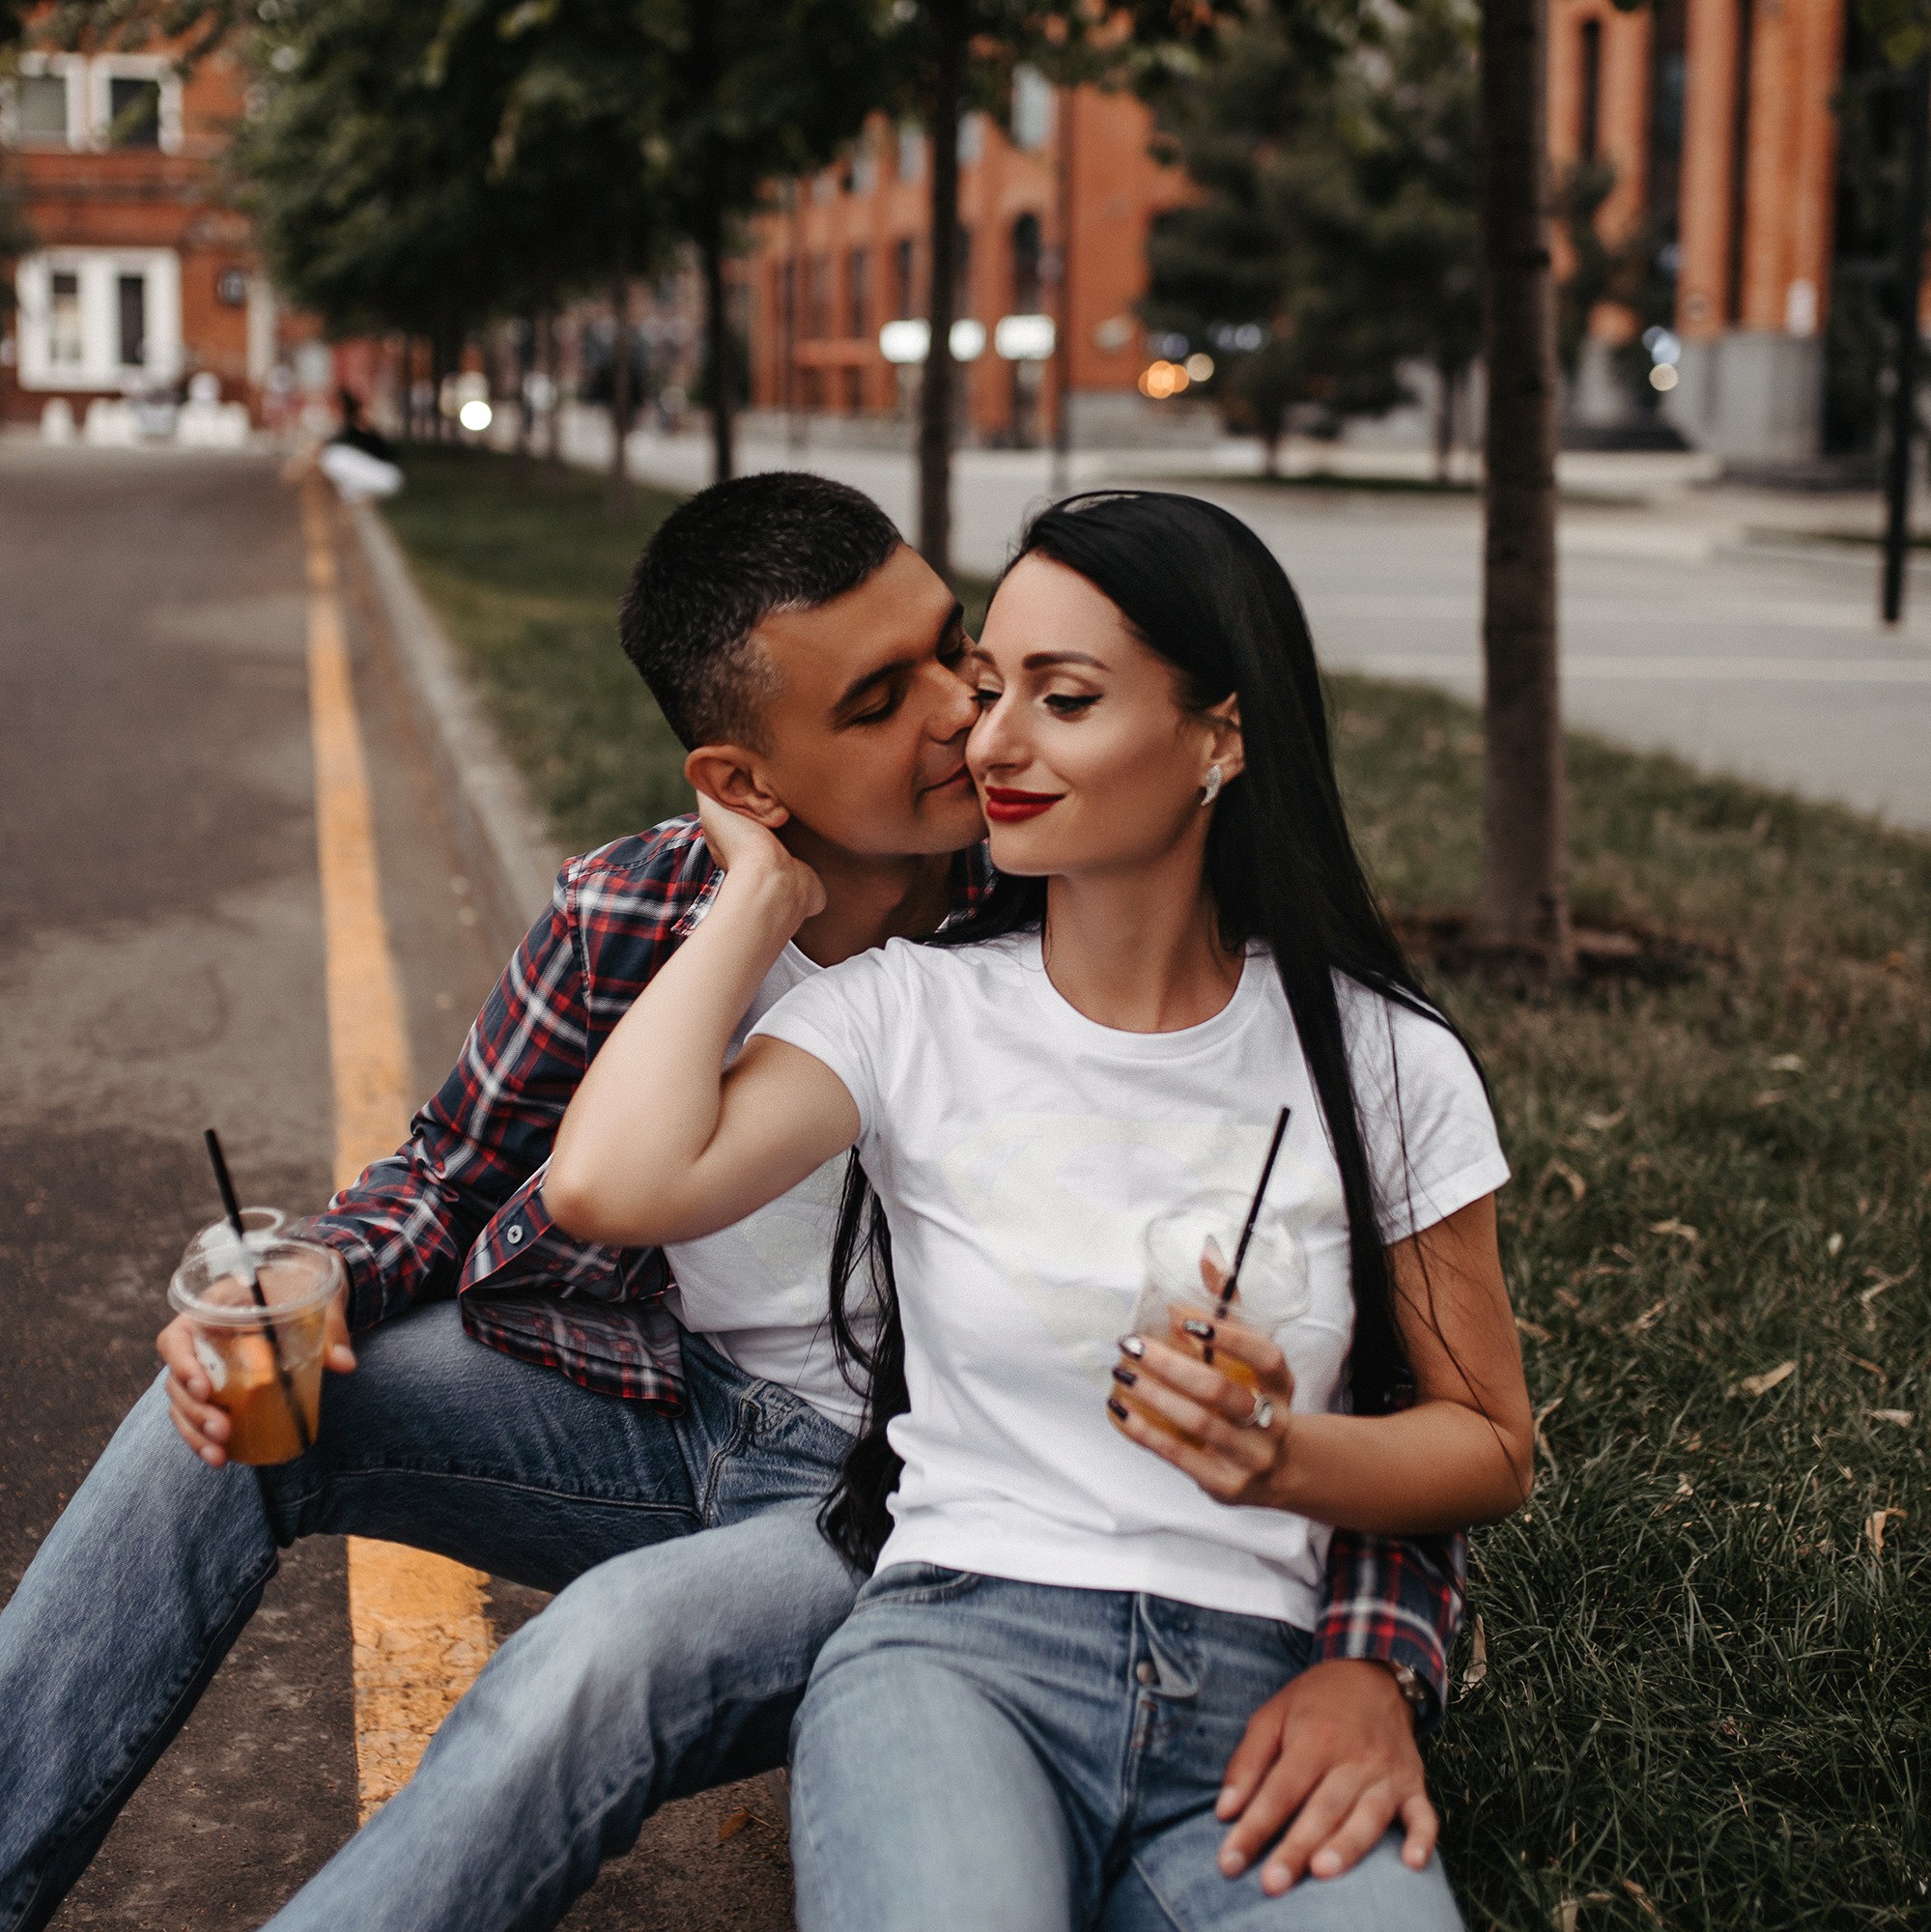
<svg viewBox="0 0 1931 1932">
<path fill-rule="evenodd" d="M 490 937 L 508 956 L 545 914 L 562 848 L 543 829 L 523 775 L 504 755 L 456 645 L 409 576 L 402 547 L 369 502 L 344 506 L 404 684 L 427 726 L 452 829 L 475 873 Z"/>
</svg>

